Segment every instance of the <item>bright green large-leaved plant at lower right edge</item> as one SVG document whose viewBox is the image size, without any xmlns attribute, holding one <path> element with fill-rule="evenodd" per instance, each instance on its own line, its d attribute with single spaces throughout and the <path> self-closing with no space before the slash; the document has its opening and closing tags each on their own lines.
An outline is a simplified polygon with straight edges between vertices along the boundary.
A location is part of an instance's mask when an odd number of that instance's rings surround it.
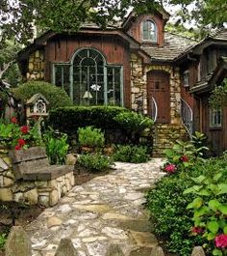
<svg viewBox="0 0 227 256">
<path fill-rule="evenodd" d="M 194 226 L 203 230 L 200 236 L 207 240 L 207 247 L 213 251 L 213 255 L 226 255 L 227 252 L 214 242 L 219 235 L 227 235 L 226 158 L 223 157 L 220 162 L 218 168 L 215 168 L 216 164 L 212 165 L 210 170 L 196 178 L 191 178 L 194 185 L 184 191 L 184 194 L 196 196 L 187 209 L 193 211 Z M 224 167 L 222 167 L 223 164 L 225 164 Z"/>
</svg>

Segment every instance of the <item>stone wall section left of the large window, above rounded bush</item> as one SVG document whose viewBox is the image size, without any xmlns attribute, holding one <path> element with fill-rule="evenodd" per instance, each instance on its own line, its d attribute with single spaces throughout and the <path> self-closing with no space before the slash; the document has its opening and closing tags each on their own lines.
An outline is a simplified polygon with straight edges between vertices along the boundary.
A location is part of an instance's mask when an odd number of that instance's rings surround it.
<svg viewBox="0 0 227 256">
<path fill-rule="evenodd" d="M 43 50 L 36 50 L 29 56 L 27 80 L 44 79 L 44 53 Z"/>
</svg>

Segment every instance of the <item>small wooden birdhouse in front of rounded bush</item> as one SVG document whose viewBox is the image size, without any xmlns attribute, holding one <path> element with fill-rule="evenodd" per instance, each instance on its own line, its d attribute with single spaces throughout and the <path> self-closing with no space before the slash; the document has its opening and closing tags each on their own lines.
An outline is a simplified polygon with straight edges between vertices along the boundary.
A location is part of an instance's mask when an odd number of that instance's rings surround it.
<svg viewBox="0 0 227 256">
<path fill-rule="evenodd" d="M 31 99 L 26 102 L 26 116 L 30 117 L 44 117 L 48 116 L 48 105 L 49 101 L 41 94 L 34 95 Z"/>
</svg>

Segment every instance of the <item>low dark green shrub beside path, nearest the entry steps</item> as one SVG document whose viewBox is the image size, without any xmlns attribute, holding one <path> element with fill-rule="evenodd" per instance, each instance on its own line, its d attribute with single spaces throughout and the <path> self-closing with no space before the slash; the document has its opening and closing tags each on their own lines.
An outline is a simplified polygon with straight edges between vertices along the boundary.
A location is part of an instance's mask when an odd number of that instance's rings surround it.
<svg viewBox="0 0 227 256">
<path fill-rule="evenodd" d="M 147 149 L 142 146 L 118 145 L 114 152 L 114 160 L 139 163 L 148 161 L 149 155 Z"/>
</svg>

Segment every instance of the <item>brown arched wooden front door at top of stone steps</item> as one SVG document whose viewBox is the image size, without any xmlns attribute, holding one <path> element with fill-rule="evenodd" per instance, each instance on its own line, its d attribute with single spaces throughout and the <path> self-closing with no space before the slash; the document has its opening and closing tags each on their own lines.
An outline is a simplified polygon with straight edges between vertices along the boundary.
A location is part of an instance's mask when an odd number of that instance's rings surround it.
<svg viewBox="0 0 227 256">
<path fill-rule="evenodd" d="M 147 96 L 148 113 L 154 118 L 154 111 L 157 109 L 156 122 L 161 124 L 169 123 L 170 96 L 169 74 L 167 72 L 150 71 L 147 73 Z"/>
</svg>

